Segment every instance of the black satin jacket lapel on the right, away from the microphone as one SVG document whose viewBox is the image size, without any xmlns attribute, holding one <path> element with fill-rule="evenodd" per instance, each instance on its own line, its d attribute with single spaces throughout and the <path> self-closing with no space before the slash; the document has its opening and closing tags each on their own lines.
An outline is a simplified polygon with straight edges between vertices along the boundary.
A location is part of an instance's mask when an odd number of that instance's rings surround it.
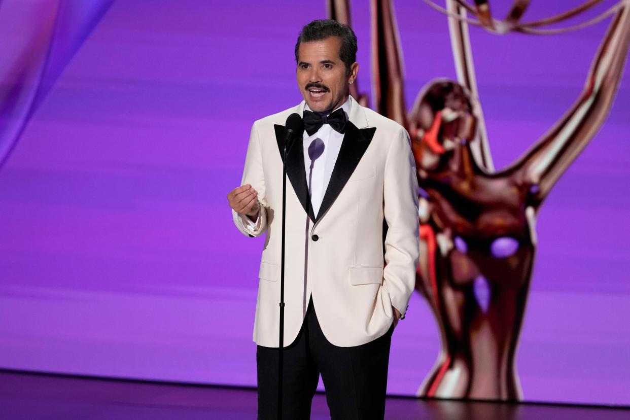
<svg viewBox="0 0 630 420">
<path fill-rule="evenodd" d="M 319 220 L 326 213 L 326 210 L 343 190 L 343 186 L 348 182 L 348 178 L 350 178 L 358 162 L 363 157 L 365 150 L 370 145 L 375 131 L 375 127 L 359 130 L 351 122 L 346 124 L 346 133 L 343 136 L 343 142 L 341 142 L 339 156 L 337 156 L 333 173 L 328 182 L 328 188 L 326 188 L 326 193 L 321 201 L 321 207 L 319 207 L 318 217 L 315 221 Z"/>
</svg>

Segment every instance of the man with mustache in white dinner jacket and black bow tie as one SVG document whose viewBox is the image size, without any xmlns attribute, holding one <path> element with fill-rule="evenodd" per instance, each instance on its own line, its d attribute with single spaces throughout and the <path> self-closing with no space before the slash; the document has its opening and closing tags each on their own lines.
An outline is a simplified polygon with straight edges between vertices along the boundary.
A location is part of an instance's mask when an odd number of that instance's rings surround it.
<svg viewBox="0 0 630 420">
<path fill-rule="evenodd" d="M 302 28 L 304 101 L 254 123 L 242 185 L 227 196 L 243 234 L 266 232 L 253 337 L 259 419 L 278 409 L 282 150 L 292 113 L 305 130 L 287 155 L 283 416 L 309 418 L 320 373 L 333 419 L 384 416 L 391 334 L 415 284 L 418 184 L 404 128 L 348 95 L 356 52 L 348 26 Z"/>
</svg>

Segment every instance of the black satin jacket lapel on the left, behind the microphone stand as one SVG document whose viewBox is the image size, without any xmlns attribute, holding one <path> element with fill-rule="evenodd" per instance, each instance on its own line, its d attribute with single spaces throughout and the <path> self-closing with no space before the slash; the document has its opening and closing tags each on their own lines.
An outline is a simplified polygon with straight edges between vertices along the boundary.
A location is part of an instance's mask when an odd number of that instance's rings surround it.
<svg viewBox="0 0 630 420">
<path fill-rule="evenodd" d="M 282 159 L 284 156 L 285 127 L 284 125 L 274 124 L 273 128 L 275 128 L 278 151 L 280 152 L 280 159 Z M 306 212 L 311 220 L 314 221 L 315 216 L 313 215 L 311 200 L 309 200 L 309 188 L 306 183 L 306 173 L 304 172 L 303 147 L 302 138 L 300 137 L 294 140 L 293 146 L 289 149 L 289 154 L 287 154 L 287 178 L 289 178 L 289 181 L 293 186 L 295 195 L 297 195 L 298 200 L 302 203 L 304 212 Z"/>
</svg>

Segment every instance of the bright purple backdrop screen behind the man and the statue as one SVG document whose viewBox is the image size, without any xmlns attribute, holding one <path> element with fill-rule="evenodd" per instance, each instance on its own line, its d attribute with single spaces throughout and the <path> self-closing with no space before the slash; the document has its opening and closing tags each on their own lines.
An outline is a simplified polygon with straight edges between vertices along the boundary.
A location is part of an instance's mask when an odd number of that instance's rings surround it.
<svg viewBox="0 0 630 420">
<path fill-rule="evenodd" d="M 368 3 L 352 3 L 364 90 Z M 526 16 L 573 4 L 534 0 Z M 419 0 L 394 6 L 413 101 L 430 79 L 455 78 L 447 20 Z M 301 101 L 295 39 L 325 17 L 324 1 L 113 2 L 0 168 L 1 368 L 256 385 L 263 239 L 236 230 L 226 195 L 251 123 Z M 471 27 L 496 167 L 573 103 L 608 23 L 545 37 Z M 630 404 L 629 131 L 626 70 L 539 217 L 525 400 Z M 416 393 L 438 340 L 416 293 L 393 337 L 390 394 Z"/>
</svg>

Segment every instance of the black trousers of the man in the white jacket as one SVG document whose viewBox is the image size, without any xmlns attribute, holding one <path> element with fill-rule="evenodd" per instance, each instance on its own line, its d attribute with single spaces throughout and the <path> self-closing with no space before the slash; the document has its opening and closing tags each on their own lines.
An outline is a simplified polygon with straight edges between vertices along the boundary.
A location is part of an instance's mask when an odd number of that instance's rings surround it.
<svg viewBox="0 0 630 420">
<path fill-rule="evenodd" d="M 321 373 L 331 420 L 382 420 L 387 365 L 394 326 L 383 336 L 354 347 L 324 337 L 312 299 L 302 329 L 284 349 L 282 418 L 309 419 Z M 278 349 L 258 346 L 258 420 L 278 418 Z"/>
</svg>

